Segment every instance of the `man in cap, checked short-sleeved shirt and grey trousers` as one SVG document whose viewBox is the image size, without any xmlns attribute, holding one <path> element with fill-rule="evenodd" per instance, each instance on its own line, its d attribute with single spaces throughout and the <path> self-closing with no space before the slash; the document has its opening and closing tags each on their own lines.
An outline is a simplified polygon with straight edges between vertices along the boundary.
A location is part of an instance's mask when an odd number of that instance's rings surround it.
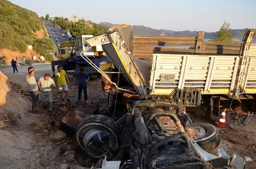
<svg viewBox="0 0 256 169">
<path fill-rule="evenodd" d="M 44 104 L 44 110 L 47 109 L 46 97 L 48 97 L 49 102 L 49 113 L 52 113 L 52 88 L 54 94 L 56 93 L 56 85 L 52 78 L 50 78 L 50 74 L 46 73 L 44 77 L 40 77 L 38 80 L 38 88 L 40 89 L 40 94 L 42 98 L 42 102 Z"/>
</svg>

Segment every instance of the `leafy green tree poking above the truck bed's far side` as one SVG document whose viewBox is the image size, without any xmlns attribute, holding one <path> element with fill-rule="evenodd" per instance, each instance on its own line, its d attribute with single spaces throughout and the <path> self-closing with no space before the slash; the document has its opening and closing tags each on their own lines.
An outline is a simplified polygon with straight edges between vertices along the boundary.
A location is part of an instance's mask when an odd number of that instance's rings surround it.
<svg viewBox="0 0 256 169">
<path fill-rule="evenodd" d="M 231 34 L 232 29 L 230 28 L 230 23 L 224 22 L 221 26 L 220 30 L 217 31 L 215 38 L 213 41 L 221 41 L 221 42 L 231 42 L 234 41 L 234 34 Z"/>
</svg>

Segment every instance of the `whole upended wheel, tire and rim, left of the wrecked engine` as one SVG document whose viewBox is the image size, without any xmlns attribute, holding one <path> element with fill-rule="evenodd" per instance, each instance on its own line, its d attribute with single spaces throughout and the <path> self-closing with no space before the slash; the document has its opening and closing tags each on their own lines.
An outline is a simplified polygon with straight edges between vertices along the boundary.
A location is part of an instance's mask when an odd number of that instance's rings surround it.
<svg viewBox="0 0 256 169">
<path fill-rule="evenodd" d="M 95 141 L 95 136 L 108 133 L 106 140 Z M 89 155 L 95 158 L 103 157 L 108 150 L 112 152 L 118 147 L 119 130 L 114 120 L 103 115 L 92 115 L 84 118 L 76 129 L 78 145 Z M 108 151 L 109 152 L 109 151 Z"/>
</svg>

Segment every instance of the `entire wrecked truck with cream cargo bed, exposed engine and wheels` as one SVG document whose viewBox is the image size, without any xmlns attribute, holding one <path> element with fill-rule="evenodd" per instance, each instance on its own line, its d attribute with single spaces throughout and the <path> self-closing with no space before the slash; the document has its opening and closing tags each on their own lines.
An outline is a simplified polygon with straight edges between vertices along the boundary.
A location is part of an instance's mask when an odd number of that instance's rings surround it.
<svg viewBox="0 0 256 169">
<path fill-rule="evenodd" d="M 101 73 L 114 116 L 117 109 L 124 112 L 116 121 L 91 115 L 76 128 L 79 146 L 100 159 L 92 168 L 242 169 L 244 159 L 230 157 L 224 147 L 218 149 L 218 156 L 208 153 L 220 144 L 218 128 L 189 124 L 185 109 L 180 107 L 198 107 L 206 95 L 213 100 L 241 98 L 242 94 L 254 97 L 256 46 L 250 44 L 254 34 L 254 30 L 247 29 L 244 43 L 233 44 L 205 42 L 204 32 L 200 31 L 196 38 L 132 37 L 132 27 L 121 25 L 87 39 L 89 45 L 81 56 Z M 196 49 L 158 47 L 168 43 L 178 46 L 181 42 Z M 102 45 L 114 69 L 101 71 L 82 55 L 96 45 Z M 211 51 L 214 47 L 216 53 Z M 152 60 L 134 57 L 144 55 L 153 55 Z M 218 116 L 220 108 L 211 107 L 211 115 Z M 189 138 L 185 128 L 199 130 L 198 137 Z"/>
</svg>

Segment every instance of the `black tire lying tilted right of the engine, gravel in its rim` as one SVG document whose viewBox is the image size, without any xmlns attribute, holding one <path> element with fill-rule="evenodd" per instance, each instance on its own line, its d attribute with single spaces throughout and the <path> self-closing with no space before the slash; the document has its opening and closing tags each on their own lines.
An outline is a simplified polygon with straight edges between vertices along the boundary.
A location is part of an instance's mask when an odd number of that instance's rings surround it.
<svg viewBox="0 0 256 169">
<path fill-rule="evenodd" d="M 206 134 L 197 138 L 196 143 L 204 149 L 204 151 L 210 152 L 220 145 L 220 132 L 218 128 L 212 124 L 194 123 L 186 125 L 186 128 L 201 127 L 206 130 Z"/>
</svg>

